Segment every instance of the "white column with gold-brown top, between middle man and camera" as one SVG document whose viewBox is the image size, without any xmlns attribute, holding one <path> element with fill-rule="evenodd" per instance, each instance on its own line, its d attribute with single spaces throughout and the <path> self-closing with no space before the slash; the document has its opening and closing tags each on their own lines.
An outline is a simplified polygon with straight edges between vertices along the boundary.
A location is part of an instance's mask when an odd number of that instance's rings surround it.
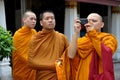
<svg viewBox="0 0 120 80">
<path fill-rule="evenodd" d="M 77 18 L 77 2 L 65 2 L 65 27 L 64 33 L 70 41 L 74 32 L 74 19 Z"/>
</svg>

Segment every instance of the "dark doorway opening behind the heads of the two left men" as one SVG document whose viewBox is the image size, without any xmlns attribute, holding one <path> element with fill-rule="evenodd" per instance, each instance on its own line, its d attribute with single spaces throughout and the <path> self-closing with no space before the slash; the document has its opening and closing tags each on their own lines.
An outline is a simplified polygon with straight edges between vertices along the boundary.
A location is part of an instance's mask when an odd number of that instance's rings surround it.
<svg viewBox="0 0 120 80">
<path fill-rule="evenodd" d="M 37 15 L 37 24 L 35 29 L 41 30 L 39 24 L 39 14 L 43 10 L 52 10 L 55 13 L 56 26 L 55 30 L 64 32 L 64 15 L 65 15 L 65 1 L 64 0 L 27 0 L 27 9 L 31 9 Z"/>
</svg>

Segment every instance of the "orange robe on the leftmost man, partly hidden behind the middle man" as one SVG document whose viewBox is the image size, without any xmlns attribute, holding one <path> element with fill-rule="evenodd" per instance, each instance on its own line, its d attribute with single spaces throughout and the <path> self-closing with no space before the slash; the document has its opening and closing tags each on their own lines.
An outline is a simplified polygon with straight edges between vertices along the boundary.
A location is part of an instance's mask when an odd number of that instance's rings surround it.
<svg viewBox="0 0 120 80">
<path fill-rule="evenodd" d="M 16 48 L 12 54 L 13 80 L 35 80 L 36 71 L 28 65 L 28 44 L 35 33 L 34 29 L 22 26 L 13 36 Z"/>
</svg>

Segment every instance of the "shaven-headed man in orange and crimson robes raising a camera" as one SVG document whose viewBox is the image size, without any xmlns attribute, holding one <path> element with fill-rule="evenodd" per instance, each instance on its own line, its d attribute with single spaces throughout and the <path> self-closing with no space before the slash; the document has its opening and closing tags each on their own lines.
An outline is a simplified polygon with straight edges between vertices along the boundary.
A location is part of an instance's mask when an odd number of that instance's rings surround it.
<svg viewBox="0 0 120 80">
<path fill-rule="evenodd" d="M 102 17 L 91 13 L 85 24 L 86 34 L 79 37 L 81 24 L 74 21 L 74 34 L 62 63 L 57 63 L 58 80 L 114 80 L 112 55 L 118 42 L 114 35 L 101 32 Z"/>
</svg>

